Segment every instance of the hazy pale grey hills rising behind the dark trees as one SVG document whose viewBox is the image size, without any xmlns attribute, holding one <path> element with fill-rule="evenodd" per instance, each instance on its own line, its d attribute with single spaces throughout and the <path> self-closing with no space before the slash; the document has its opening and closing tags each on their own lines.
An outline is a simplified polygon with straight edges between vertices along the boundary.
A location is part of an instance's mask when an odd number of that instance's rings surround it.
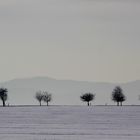
<svg viewBox="0 0 140 140">
<path fill-rule="evenodd" d="M 92 104 L 112 104 L 111 93 L 115 86 L 121 86 L 127 97 L 126 105 L 140 104 L 138 95 L 140 94 L 140 80 L 115 84 L 105 82 L 88 82 L 74 80 L 56 80 L 49 77 L 34 77 L 24 79 L 14 79 L 1 83 L 1 87 L 8 88 L 10 105 L 37 105 L 34 98 L 36 91 L 46 90 L 53 95 L 53 105 L 83 105 L 79 96 L 85 92 L 96 94 Z"/>
</svg>

